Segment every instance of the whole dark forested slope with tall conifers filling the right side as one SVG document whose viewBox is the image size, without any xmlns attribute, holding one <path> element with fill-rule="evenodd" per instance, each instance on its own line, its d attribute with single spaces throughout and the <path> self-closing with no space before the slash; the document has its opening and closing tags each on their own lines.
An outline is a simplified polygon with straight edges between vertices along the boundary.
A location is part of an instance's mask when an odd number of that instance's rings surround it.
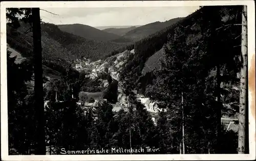
<svg viewBox="0 0 256 161">
<path fill-rule="evenodd" d="M 172 147 L 184 143 L 186 153 L 228 150 L 221 120 L 238 119 L 241 17 L 241 6 L 206 6 L 135 43 L 135 55 L 120 80 L 167 109 L 159 120 L 163 136 L 172 136 Z M 160 68 L 142 75 L 145 62 L 154 53 L 159 58 L 161 48 Z M 147 65 L 158 61 L 154 60 Z M 236 132 L 225 136 L 236 138 L 229 146 L 233 150 L 238 145 Z"/>
</svg>

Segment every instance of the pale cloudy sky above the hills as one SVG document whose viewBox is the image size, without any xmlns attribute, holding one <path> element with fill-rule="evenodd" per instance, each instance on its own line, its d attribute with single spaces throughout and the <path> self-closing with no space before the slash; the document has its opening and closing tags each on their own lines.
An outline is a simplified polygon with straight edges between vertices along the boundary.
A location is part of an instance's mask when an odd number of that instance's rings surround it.
<svg viewBox="0 0 256 161">
<path fill-rule="evenodd" d="M 155 21 L 185 17 L 199 7 L 112 7 L 112 8 L 41 8 L 42 21 L 54 24 L 90 26 L 144 25 Z M 48 13 L 46 11 L 54 14 Z"/>
</svg>

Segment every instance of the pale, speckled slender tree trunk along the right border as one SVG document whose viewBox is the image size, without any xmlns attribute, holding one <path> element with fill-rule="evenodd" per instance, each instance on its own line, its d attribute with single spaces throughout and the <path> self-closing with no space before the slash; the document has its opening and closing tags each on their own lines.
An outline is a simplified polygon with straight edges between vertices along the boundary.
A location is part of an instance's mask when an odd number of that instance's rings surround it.
<svg viewBox="0 0 256 161">
<path fill-rule="evenodd" d="M 238 132 L 238 153 L 245 154 L 248 151 L 246 146 L 246 136 L 248 132 L 248 125 L 246 121 L 247 102 L 247 6 L 243 6 L 242 11 L 242 42 L 241 42 L 241 71 L 240 71 L 240 105 L 239 105 L 239 132 Z"/>
</svg>

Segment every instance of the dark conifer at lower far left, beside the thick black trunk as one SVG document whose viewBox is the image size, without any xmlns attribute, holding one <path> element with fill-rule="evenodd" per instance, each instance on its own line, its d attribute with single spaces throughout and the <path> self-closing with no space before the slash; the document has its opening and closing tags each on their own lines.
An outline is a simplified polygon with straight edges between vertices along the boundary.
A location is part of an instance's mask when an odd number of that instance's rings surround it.
<svg viewBox="0 0 256 161">
<path fill-rule="evenodd" d="M 25 83 L 31 81 L 33 69 L 26 62 L 16 64 L 10 53 L 7 50 L 9 154 L 29 154 L 35 148 L 35 124 L 31 122 L 36 118 L 34 97 Z"/>
</svg>

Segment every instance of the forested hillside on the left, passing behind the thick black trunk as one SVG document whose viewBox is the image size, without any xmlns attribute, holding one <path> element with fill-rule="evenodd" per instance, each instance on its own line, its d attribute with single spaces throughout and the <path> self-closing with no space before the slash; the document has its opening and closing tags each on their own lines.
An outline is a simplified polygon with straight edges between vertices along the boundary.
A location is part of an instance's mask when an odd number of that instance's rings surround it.
<svg viewBox="0 0 256 161">
<path fill-rule="evenodd" d="M 7 43 L 23 57 L 32 56 L 33 39 L 29 29 L 29 24 L 25 23 L 21 23 L 17 30 L 7 26 Z M 125 47 L 122 43 L 94 41 L 63 32 L 50 23 L 42 22 L 41 31 L 43 62 L 55 70 L 76 58 L 98 60 L 110 55 L 113 50 Z"/>
</svg>

